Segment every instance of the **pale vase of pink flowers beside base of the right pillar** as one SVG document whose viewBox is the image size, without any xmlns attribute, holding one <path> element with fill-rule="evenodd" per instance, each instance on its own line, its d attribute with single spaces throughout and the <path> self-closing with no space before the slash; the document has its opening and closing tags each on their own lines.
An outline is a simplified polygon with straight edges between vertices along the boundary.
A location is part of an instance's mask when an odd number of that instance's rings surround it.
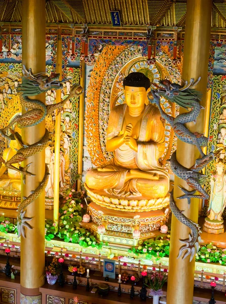
<svg viewBox="0 0 226 304">
<path fill-rule="evenodd" d="M 159 303 L 159 297 L 163 294 L 162 287 L 166 283 L 168 278 L 167 270 L 159 272 L 152 272 L 147 276 L 147 284 L 150 288 L 150 295 L 153 296 L 153 304 Z"/>
</svg>

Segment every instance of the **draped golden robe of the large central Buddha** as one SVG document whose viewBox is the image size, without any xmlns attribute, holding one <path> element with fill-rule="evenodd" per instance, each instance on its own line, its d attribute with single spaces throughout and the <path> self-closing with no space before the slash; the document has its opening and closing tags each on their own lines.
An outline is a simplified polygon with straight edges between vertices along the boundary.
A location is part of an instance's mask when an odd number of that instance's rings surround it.
<svg viewBox="0 0 226 304">
<path fill-rule="evenodd" d="M 110 112 L 107 139 L 123 134 L 127 105 L 122 104 Z M 137 137 L 137 152 L 125 143 L 115 150 L 114 158 L 106 165 L 109 171 L 91 169 L 86 184 L 95 191 L 105 191 L 111 196 L 139 197 L 139 199 L 163 198 L 169 191 L 169 176 L 159 164 L 165 149 L 165 128 L 159 109 L 152 104 L 145 106 Z M 125 182 L 130 169 L 159 174 L 158 180 L 133 178 Z"/>
</svg>

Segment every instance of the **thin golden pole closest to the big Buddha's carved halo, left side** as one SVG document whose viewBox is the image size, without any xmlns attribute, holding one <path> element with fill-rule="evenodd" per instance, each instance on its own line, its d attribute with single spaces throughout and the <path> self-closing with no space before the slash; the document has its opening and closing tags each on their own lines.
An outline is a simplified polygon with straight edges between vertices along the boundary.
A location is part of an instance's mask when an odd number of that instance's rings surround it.
<svg viewBox="0 0 226 304">
<path fill-rule="evenodd" d="M 84 129 L 84 105 L 85 105 L 85 62 L 80 64 L 80 85 L 83 93 L 79 97 L 79 145 L 78 145 L 78 174 L 83 173 L 83 129 Z M 77 191 L 81 187 L 81 181 L 77 181 Z"/>
</svg>

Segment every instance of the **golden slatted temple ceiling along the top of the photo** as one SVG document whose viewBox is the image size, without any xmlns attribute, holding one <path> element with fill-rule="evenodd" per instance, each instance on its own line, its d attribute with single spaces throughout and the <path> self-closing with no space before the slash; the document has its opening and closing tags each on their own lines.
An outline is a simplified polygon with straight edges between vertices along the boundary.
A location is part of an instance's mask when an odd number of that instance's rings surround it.
<svg viewBox="0 0 226 304">
<path fill-rule="evenodd" d="M 124 26 L 184 26 L 186 0 L 46 0 L 47 23 L 111 26 L 119 11 Z M 22 21 L 22 0 L 0 0 L 0 22 Z M 226 27 L 226 1 L 213 0 L 212 27 Z M 1 24 L 0 24 L 1 25 Z"/>
</svg>

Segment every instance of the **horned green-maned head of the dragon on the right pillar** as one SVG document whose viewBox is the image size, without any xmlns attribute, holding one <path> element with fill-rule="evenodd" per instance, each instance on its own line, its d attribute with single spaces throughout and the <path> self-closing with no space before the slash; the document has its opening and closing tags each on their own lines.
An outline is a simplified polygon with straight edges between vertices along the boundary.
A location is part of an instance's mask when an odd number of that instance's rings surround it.
<svg viewBox="0 0 226 304">
<path fill-rule="evenodd" d="M 157 96 L 162 96 L 171 102 L 177 103 L 183 108 L 191 108 L 191 105 L 200 99 L 201 95 L 198 91 L 192 89 L 196 86 L 201 78 L 197 82 L 191 79 L 190 83 L 185 82 L 184 86 L 171 83 L 168 79 L 160 81 L 159 86 L 154 90 Z"/>
</svg>

